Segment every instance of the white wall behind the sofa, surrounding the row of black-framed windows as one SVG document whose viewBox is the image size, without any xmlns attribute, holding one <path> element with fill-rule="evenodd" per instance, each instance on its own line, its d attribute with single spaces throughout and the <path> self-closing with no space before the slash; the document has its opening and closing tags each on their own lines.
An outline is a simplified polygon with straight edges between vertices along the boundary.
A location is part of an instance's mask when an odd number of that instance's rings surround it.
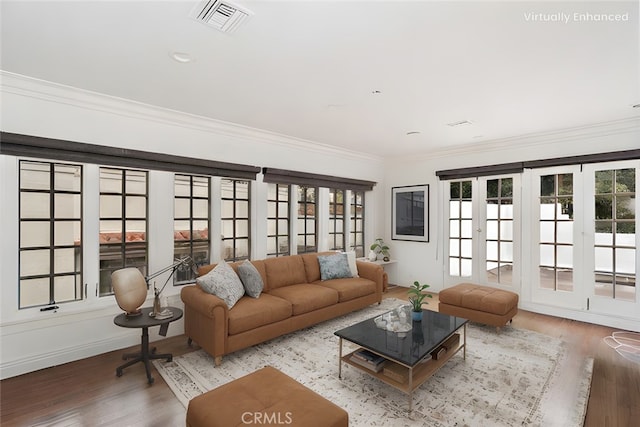
<svg viewBox="0 0 640 427">
<path fill-rule="evenodd" d="M 88 93 L 48 82 L 0 72 L 0 129 L 4 132 L 42 136 L 90 144 L 124 147 L 144 151 L 206 158 L 230 163 L 300 170 L 323 175 L 343 176 L 379 182 L 366 196 L 366 235 L 381 233 L 382 217 L 376 207 L 382 201 L 382 160 L 374 156 L 337 150 L 309 141 L 296 140 L 256 129 L 194 117 L 141 105 L 127 100 Z M 65 363 L 111 350 L 139 344 L 140 331 L 119 328 L 113 317 L 120 310 L 113 297 L 99 298 L 89 292 L 79 303 L 59 304 L 57 311 L 17 309 L 18 289 L 18 191 L 15 157 L 0 156 L 0 226 L 3 230 L 0 252 L 0 378 Z M 88 165 L 87 169 L 97 168 Z M 90 174 L 97 176 L 96 171 Z M 212 203 L 218 200 L 213 180 Z M 85 182 L 85 232 L 98 229 L 97 179 Z M 261 176 L 254 185 L 252 214 L 263 218 L 266 212 L 266 184 Z M 89 191 L 93 190 L 93 191 Z M 152 171 L 149 195 L 149 270 L 157 271 L 171 263 L 173 210 L 171 175 Z M 218 194 L 219 196 L 219 194 Z M 212 227 L 216 208 L 212 206 Z M 254 257 L 263 254 L 260 243 L 266 225 L 252 225 Z M 215 228 L 212 228 L 212 232 Z M 86 234 L 85 234 L 86 235 Z M 152 241 L 155 236 L 155 241 Z M 97 242 L 97 241 L 96 241 Z M 213 248 L 212 259 L 217 259 Z M 89 289 L 98 269 L 98 245 L 85 247 L 85 280 Z M 164 283 L 158 278 L 158 283 Z M 170 305 L 182 307 L 179 287 L 168 286 L 163 296 Z M 150 295 L 151 297 L 151 295 Z M 150 305 L 147 300 L 146 305 Z M 182 321 L 169 327 L 169 336 L 183 332 Z M 150 330 L 151 340 L 158 339 Z"/>
</svg>

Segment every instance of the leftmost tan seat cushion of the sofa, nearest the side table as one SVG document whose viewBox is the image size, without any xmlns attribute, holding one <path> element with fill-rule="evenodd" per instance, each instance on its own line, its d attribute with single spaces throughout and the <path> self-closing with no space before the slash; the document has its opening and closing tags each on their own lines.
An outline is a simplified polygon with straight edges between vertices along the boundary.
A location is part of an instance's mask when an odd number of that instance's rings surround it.
<svg viewBox="0 0 640 427">
<path fill-rule="evenodd" d="M 229 335 L 239 334 L 291 317 L 291 303 L 269 294 L 240 298 L 229 311 Z"/>
</svg>

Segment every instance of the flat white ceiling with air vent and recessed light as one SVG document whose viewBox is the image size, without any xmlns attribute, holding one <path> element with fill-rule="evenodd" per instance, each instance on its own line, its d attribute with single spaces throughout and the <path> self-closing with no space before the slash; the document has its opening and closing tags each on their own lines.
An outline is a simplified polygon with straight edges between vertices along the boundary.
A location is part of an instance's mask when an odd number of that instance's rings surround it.
<svg viewBox="0 0 640 427">
<path fill-rule="evenodd" d="M 225 34 L 197 1 L 2 0 L 1 68 L 382 156 L 640 114 L 638 1 L 236 2 Z"/>
</svg>

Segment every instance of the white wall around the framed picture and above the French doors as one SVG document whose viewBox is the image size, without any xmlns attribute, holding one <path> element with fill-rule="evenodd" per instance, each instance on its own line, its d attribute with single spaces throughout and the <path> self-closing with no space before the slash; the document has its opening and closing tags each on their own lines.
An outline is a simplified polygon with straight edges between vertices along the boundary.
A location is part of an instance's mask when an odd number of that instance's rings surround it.
<svg viewBox="0 0 640 427">
<path fill-rule="evenodd" d="M 432 153 L 421 158 L 387 160 L 385 163 L 387 187 L 384 192 L 385 206 L 391 206 L 392 187 L 416 184 L 429 184 L 430 186 L 430 241 L 428 243 L 391 240 L 391 230 L 389 227 L 385 228 L 384 237 L 391 246 L 392 257 L 398 260 L 397 283 L 408 286 L 414 280 L 419 280 L 430 284 L 431 289 L 436 292 L 443 289 L 445 262 L 443 262 L 442 233 L 443 230 L 446 233 L 447 225 L 446 221 L 443 221 L 441 203 L 444 185 L 436 177 L 436 171 L 639 148 L 640 119 L 631 118 L 580 129 L 462 147 L 448 152 Z M 390 224 L 390 209 L 386 209 L 384 212 L 386 215 L 384 224 Z M 523 230 L 522 232 L 529 231 Z M 521 307 L 577 320 L 609 324 L 614 327 L 634 330 L 640 328 L 640 321 L 628 322 L 628 319 L 585 316 L 584 313 L 569 313 L 533 304 L 526 298 L 530 292 L 525 289 L 525 286 L 526 284 L 523 283 Z"/>
</svg>

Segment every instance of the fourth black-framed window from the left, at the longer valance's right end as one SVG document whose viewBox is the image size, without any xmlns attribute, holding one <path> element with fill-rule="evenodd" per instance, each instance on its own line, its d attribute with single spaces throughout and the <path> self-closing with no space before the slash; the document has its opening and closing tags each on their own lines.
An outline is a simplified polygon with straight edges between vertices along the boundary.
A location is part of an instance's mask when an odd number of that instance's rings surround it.
<svg viewBox="0 0 640 427">
<path fill-rule="evenodd" d="M 250 255 L 250 182 L 221 180 L 222 249 L 225 261 L 248 259 Z"/>
</svg>

